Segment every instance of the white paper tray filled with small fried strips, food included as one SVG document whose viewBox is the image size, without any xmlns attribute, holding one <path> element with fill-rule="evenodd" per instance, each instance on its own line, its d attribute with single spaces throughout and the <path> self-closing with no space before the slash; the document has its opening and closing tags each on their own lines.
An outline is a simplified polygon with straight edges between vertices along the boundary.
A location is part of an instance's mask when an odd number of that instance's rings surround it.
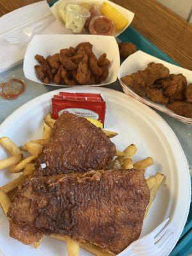
<svg viewBox="0 0 192 256">
<path fill-rule="evenodd" d="M 53 86 L 94 86 L 116 81 L 120 67 L 113 36 L 34 36 L 24 57 L 24 75 Z"/>
</svg>

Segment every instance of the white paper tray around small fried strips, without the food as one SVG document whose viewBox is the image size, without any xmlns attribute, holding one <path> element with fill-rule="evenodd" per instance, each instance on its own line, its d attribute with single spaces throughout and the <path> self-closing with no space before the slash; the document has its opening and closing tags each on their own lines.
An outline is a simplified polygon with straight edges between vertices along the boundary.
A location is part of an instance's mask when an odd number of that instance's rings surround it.
<svg viewBox="0 0 192 256">
<path fill-rule="evenodd" d="M 102 86 L 116 81 L 118 69 L 120 67 L 120 55 L 118 51 L 118 44 L 114 36 L 98 36 L 98 35 L 39 35 L 34 36 L 28 45 L 24 57 L 24 75 L 31 81 L 41 83 L 40 79 L 36 77 L 35 65 L 38 61 L 35 60 L 35 55 L 40 54 L 45 58 L 54 53 L 60 52 L 61 49 L 69 48 L 70 46 L 76 47 L 77 44 L 83 42 L 90 42 L 93 45 L 93 52 L 99 56 L 106 52 L 107 58 L 111 61 L 109 65 L 109 74 L 102 84 L 95 84 Z M 64 86 L 51 84 L 54 86 Z M 75 85 L 76 86 L 76 85 Z M 81 85 L 82 86 L 82 85 Z M 86 85 L 87 86 L 87 85 Z M 93 86 L 93 85 L 92 85 Z M 77 86 L 76 86 L 77 87 Z"/>
</svg>

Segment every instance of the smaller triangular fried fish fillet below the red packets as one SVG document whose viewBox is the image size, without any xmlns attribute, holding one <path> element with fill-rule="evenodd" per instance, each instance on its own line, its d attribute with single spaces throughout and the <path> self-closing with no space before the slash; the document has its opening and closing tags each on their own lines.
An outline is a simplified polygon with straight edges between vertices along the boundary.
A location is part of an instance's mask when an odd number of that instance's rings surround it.
<svg viewBox="0 0 192 256">
<path fill-rule="evenodd" d="M 35 175 L 101 170 L 115 154 L 115 145 L 102 129 L 86 118 L 63 113 L 38 156 Z"/>
</svg>

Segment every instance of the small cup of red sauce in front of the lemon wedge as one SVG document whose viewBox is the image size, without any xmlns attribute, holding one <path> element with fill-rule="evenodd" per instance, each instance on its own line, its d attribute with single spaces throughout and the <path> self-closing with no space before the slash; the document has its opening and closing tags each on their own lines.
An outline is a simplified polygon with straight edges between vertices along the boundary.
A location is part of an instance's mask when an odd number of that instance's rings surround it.
<svg viewBox="0 0 192 256">
<path fill-rule="evenodd" d="M 93 35 L 113 35 L 114 24 L 108 17 L 97 16 L 90 21 L 89 29 Z"/>
</svg>

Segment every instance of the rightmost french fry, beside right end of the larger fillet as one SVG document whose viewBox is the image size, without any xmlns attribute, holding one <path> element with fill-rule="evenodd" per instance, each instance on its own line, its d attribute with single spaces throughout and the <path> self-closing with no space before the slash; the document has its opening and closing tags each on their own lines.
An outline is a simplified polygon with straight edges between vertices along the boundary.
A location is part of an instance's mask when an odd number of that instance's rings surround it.
<svg viewBox="0 0 192 256">
<path fill-rule="evenodd" d="M 154 179 L 156 179 L 156 182 L 154 182 Z M 162 182 L 164 180 L 164 175 L 162 173 L 157 172 L 156 175 L 154 175 L 154 177 L 150 177 L 147 179 L 147 184 L 148 186 L 150 186 L 150 201 L 145 209 L 145 217 L 147 216 L 148 210 L 150 208 L 150 205 L 152 204 L 157 191 L 159 189 L 159 187 L 161 186 Z M 144 217 L 144 218 L 145 218 Z"/>
</svg>

